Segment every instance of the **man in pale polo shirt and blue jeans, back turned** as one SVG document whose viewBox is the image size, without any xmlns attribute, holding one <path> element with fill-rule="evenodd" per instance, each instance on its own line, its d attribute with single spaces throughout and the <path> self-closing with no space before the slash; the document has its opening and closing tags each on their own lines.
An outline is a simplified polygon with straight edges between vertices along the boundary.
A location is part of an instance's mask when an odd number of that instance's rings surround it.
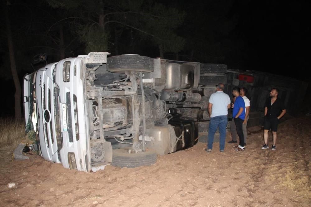
<svg viewBox="0 0 311 207">
<path fill-rule="evenodd" d="M 208 113 L 210 115 L 210 127 L 207 138 L 207 149 L 211 152 L 213 148 L 214 135 L 219 127 L 219 150 L 224 152 L 226 140 L 226 126 L 228 123 L 228 109 L 231 107 L 230 97 L 224 93 L 224 84 L 219 83 L 216 93 L 210 96 L 208 104 Z"/>
</svg>

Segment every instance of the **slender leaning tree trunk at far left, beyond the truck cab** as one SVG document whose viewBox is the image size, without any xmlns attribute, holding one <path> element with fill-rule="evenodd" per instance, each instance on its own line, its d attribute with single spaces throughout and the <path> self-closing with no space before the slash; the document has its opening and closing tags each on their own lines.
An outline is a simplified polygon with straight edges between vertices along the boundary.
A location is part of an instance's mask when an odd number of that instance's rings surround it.
<svg viewBox="0 0 311 207">
<path fill-rule="evenodd" d="M 11 63 L 11 72 L 12 77 L 15 85 L 15 118 L 16 120 L 20 121 L 21 116 L 21 85 L 19 82 L 17 70 L 16 70 L 16 63 L 15 63 L 15 57 L 14 57 L 14 48 L 13 48 L 13 40 L 12 40 L 12 31 L 11 31 L 11 23 L 9 19 L 9 8 L 5 6 L 4 9 L 4 15 L 5 15 L 5 24 L 7 29 L 7 44 L 9 49 L 9 55 L 10 55 L 10 63 Z"/>
</svg>

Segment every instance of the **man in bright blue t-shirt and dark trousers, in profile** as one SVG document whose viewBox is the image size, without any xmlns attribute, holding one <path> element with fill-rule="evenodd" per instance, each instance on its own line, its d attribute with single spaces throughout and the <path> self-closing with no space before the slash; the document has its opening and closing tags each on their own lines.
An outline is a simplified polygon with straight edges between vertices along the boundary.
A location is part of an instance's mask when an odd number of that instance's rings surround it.
<svg viewBox="0 0 311 207">
<path fill-rule="evenodd" d="M 237 133 L 240 138 L 240 145 L 234 146 L 236 151 L 243 151 L 245 149 L 244 135 L 243 135 L 243 122 L 245 119 L 245 102 L 240 96 L 240 89 L 234 87 L 232 90 L 233 96 L 236 97 L 233 105 L 233 118 L 235 126 L 237 127 Z"/>
</svg>

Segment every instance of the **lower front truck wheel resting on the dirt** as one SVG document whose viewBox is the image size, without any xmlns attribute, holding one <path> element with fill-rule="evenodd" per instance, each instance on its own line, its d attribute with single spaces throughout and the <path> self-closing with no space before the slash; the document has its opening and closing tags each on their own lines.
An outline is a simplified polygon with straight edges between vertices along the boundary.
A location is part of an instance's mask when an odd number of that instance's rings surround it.
<svg viewBox="0 0 311 207">
<path fill-rule="evenodd" d="M 145 152 L 129 154 L 129 148 L 115 149 L 112 151 L 111 165 L 115 167 L 136 168 L 144 165 L 151 165 L 157 161 L 157 153 L 155 150 L 149 149 Z"/>
</svg>

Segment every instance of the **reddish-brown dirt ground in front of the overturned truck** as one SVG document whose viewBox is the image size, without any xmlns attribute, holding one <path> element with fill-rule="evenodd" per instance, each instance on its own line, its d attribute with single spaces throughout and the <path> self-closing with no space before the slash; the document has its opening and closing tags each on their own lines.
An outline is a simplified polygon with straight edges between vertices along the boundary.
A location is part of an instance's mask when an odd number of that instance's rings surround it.
<svg viewBox="0 0 311 207">
<path fill-rule="evenodd" d="M 280 124 L 277 150 L 261 150 L 262 130 L 246 150 L 214 143 L 158 157 L 152 166 L 96 173 L 64 169 L 39 156 L 12 161 L 1 150 L 0 206 L 310 206 L 311 117 Z M 231 136 L 227 135 L 227 140 Z M 7 184 L 14 182 L 15 188 Z"/>
</svg>

